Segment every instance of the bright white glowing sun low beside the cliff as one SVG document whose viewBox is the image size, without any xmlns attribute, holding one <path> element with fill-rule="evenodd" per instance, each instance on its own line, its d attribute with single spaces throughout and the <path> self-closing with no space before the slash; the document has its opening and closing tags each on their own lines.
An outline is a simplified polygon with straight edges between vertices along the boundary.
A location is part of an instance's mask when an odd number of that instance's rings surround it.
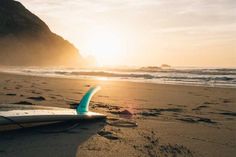
<svg viewBox="0 0 236 157">
<path fill-rule="evenodd" d="M 98 65 L 119 64 L 124 55 L 124 40 L 117 31 L 99 29 L 88 35 L 89 54 L 96 58 Z"/>
</svg>

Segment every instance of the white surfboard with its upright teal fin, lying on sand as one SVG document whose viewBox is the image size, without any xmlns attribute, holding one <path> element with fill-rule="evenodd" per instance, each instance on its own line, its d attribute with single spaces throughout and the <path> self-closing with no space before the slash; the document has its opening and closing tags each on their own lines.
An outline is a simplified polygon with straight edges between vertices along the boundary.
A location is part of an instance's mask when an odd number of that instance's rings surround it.
<svg viewBox="0 0 236 157">
<path fill-rule="evenodd" d="M 37 105 L 0 105 L 0 125 L 12 123 L 37 123 L 83 119 L 104 119 L 106 115 L 89 111 L 92 96 L 100 87 L 92 87 L 83 96 L 76 109 Z"/>
</svg>

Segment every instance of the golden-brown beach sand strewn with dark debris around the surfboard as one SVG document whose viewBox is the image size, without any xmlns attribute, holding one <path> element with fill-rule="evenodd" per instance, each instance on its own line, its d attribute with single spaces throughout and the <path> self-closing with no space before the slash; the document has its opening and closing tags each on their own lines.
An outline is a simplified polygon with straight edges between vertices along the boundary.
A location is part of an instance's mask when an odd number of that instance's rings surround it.
<svg viewBox="0 0 236 157">
<path fill-rule="evenodd" d="M 94 85 L 90 105 L 106 121 L 0 131 L 0 156 L 206 156 L 236 154 L 236 89 L 46 78 L 0 73 L 0 104 L 73 108 Z M 0 106 L 1 107 L 1 106 Z M 28 126 L 27 126 L 28 127 Z M 5 130 L 5 131 L 4 131 Z M 39 130 L 50 130 L 41 132 Z"/>
</svg>

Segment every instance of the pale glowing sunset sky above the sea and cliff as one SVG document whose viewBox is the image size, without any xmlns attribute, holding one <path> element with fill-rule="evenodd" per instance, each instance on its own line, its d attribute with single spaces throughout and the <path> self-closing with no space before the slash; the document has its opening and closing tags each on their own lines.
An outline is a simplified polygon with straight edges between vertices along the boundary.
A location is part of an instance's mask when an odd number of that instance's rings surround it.
<svg viewBox="0 0 236 157">
<path fill-rule="evenodd" d="M 99 66 L 236 67 L 235 0 L 19 0 Z"/>
</svg>

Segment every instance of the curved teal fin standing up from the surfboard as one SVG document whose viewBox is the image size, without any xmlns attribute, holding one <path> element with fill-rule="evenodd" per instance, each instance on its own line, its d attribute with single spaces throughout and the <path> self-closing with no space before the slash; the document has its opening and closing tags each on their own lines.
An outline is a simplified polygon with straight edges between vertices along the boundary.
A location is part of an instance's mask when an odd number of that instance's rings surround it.
<svg viewBox="0 0 236 157">
<path fill-rule="evenodd" d="M 88 92 L 83 96 L 79 105 L 76 108 L 78 114 L 86 113 L 89 111 L 89 102 L 92 99 L 92 96 L 101 89 L 100 86 L 92 87 Z"/>
</svg>

